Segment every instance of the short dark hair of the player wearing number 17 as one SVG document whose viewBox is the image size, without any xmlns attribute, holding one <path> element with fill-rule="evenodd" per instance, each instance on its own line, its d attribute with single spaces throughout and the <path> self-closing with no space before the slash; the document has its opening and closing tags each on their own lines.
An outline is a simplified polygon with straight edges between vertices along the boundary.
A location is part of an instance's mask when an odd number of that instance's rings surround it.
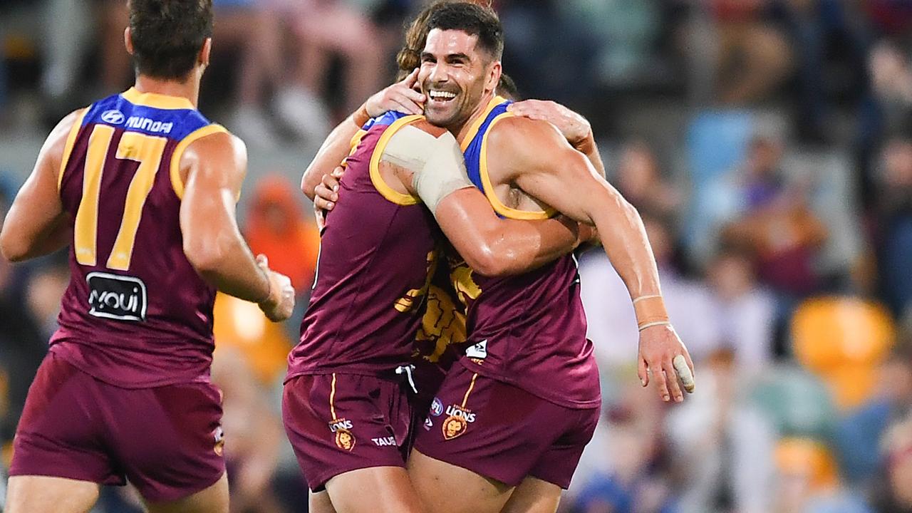
<svg viewBox="0 0 912 513">
<path fill-rule="evenodd" d="M 130 0 L 130 36 L 137 73 L 183 79 L 212 37 L 212 0 Z"/>
</svg>

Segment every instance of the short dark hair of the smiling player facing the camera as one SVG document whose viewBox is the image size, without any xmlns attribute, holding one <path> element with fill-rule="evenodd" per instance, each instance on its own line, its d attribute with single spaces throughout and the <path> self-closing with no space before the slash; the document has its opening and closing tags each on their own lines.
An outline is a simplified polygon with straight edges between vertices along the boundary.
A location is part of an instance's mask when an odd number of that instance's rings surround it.
<svg viewBox="0 0 912 513">
<path fill-rule="evenodd" d="M 478 37 L 478 46 L 494 60 L 503 57 L 503 25 L 490 6 L 472 2 L 453 2 L 440 5 L 428 19 L 428 31 L 461 30 Z"/>
</svg>

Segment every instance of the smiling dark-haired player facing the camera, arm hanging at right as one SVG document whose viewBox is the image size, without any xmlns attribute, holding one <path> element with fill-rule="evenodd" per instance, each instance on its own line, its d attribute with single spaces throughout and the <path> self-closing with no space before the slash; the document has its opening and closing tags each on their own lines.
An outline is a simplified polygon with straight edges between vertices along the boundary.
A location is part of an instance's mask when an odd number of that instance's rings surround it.
<svg viewBox="0 0 912 513">
<path fill-rule="evenodd" d="M 682 400 L 678 380 L 692 388 L 692 365 L 668 323 L 636 210 L 553 126 L 513 117 L 495 96 L 503 32 L 490 9 L 440 5 L 429 27 L 418 77 L 427 119 L 456 135 L 498 214 L 543 219 L 556 209 L 599 228 L 637 311 L 640 379 Z M 433 511 L 554 511 L 600 402 L 575 262 L 459 281 L 473 292 L 462 294 L 472 345 L 419 430 L 409 475 Z"/>
</svg>

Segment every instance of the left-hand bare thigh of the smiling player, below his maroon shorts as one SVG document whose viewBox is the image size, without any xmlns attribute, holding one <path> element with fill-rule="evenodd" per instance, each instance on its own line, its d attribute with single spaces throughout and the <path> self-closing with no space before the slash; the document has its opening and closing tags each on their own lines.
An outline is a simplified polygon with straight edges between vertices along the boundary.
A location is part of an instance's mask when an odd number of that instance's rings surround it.
<svg viewBox="0 0 912 513">
<path fill-rule="evenodd" d="M 513 492 L 513 487 L 500 481 L 417 449 L 409 457 L 409 477 L 421 503 L 434 513 L 496 513 Z"/>
</svg>

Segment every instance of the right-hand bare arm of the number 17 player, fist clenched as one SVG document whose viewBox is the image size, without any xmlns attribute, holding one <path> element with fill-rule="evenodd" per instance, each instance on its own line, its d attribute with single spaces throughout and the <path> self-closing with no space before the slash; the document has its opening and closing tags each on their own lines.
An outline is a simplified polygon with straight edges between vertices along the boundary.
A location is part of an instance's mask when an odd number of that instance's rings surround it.
<svg viewBox="0 0 912 513">
<path fill-rule="evenodd" d="M 270 270 L 265 257 L 254 259 L 234 215 L 246 169 L 244 142 L 228 133 L 202 137 L 183 153 L 183 251 L 215 288 L 258 303 L 269 319 L 285 320 L 295 306 L 291 281 Z"/>
</svg>

